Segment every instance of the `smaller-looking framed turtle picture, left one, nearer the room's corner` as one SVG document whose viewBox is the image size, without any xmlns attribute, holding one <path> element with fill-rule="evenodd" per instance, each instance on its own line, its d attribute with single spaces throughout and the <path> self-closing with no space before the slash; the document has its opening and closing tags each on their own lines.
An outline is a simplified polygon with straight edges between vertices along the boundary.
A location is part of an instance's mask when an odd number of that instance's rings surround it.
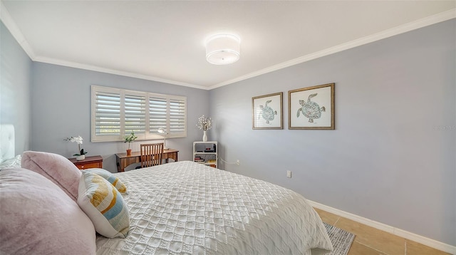
<svg viewBox="0 0 456 255">
<path fill-rule="evenodd" d="M 283 129 L 282 97 L 284 93 L 252 98 L 252 129 Z"/>
</svg>

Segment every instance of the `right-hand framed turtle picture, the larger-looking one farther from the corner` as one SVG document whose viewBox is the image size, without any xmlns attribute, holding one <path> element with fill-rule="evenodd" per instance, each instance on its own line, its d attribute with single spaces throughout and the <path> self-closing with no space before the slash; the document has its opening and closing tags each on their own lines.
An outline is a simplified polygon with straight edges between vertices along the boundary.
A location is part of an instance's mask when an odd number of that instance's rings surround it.
<svg viewBox="0 0 456 255">
<path fill-rule="evenodd" d="M 288 128 L 335 129 L 334 83 L 289 90 Z"/>
</svg>

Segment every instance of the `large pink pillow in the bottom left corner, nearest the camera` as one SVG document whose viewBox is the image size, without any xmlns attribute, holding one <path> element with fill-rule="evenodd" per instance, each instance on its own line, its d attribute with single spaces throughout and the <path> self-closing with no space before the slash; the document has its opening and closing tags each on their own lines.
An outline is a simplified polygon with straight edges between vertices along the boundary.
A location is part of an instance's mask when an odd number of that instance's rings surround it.
<svg viewBox="0 0 456 255">
<path fill-rule="evenodd" d="M 95 254 L 92 222 L 46 177 L 1 170 L 0 204 L 0 254 Z"/>
</svg>

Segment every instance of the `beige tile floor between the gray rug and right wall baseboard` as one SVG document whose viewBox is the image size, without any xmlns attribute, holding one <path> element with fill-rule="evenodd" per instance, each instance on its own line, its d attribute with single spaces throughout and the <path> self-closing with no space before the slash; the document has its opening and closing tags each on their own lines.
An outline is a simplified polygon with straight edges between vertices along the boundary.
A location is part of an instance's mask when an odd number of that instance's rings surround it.
<svg viewBox="0 0 456 255">
<path fill-rule="evenodd" d="M 355 234 L 348 255 L 447 255 L 444 251 L 315 208 L 323 222 Z"/>
</svg>

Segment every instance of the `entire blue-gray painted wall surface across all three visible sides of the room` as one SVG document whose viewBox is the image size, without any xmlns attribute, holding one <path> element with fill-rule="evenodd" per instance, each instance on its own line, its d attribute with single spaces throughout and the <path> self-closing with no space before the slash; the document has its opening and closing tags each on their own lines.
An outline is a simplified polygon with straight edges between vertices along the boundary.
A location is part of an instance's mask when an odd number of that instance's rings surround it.
<svg viewBox="0 0 456 255">
<path fill-rule="evenodd" d="M 16 125 L 16 152 L 70 157 L 76 145 L 63 137 L 82 135 L 89 155 L 115 171 L 125 144 L 89 142 L 90 85 L 187 95 L 188 136 L 167 140 L 181 160 L 201 139 L 197 118 L 210 115 L 209 140 L 224 160 L 241 161 L 221 168 L 456 245 L 455 28 L 447 21 L 206 91 L 32 63 L 1 24 L 0 120 Z M 287 91 L 332 82 L 336 130 L 288 130 Z M 284 130 L 252 130 L 252 97 L 276 92 Z"/>
</svg>

